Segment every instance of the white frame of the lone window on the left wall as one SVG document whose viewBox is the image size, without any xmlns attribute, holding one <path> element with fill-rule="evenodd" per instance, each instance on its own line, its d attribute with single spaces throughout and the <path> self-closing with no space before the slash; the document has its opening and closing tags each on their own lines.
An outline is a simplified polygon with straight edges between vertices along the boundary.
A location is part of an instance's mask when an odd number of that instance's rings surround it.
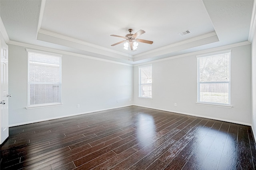
<svg viewBox="0 0 256 170">
<path fill-rule="evenodd" d="M 27 107 L 26 109 L 34 109 L 34 108 L 44 108 L 44 107 L 53 107 L 53 106 L 62 106 L 62 55 L 61 54 L 55 54 L 50 52 L 43 52 L 38 50 L 32 50 L 32 49 L 26 49 L 28 52 L 28 79 L 27 79 L 27 87 L 28 87 L 28 97 L 27 97 Z M 45 103 L 45 104 L 30 104 L 30 82 L 29 82 L 29 53 L 37 53 L 40 55 L 47 55 L 47 57 L 57 57 L 60 58 L 60 82 L 58 83 L 60 86 L 60 102 L 54 102 L 54 103 Z M 47 84 L 47 83 L 46 83 Z M 54 83 L 53 83 L 54 84 Z M 56 83 L 57 84 L 57 83 Z"/>
</svg>

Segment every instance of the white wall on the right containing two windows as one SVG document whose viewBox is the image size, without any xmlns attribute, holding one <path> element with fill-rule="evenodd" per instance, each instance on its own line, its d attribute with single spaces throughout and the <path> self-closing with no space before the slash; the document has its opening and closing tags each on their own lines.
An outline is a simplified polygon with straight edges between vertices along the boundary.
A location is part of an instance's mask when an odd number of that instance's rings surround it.
<svg viewBox="0 0 256 170">
<path fill-rule="evenodd" d="M 228 49 L 226 49 L 228 50 Z M 152 63 L 152 100 L 138 98 L 134 67 L 134 104 L 176 113 L 251 124 L 251 46 L 231 48 L 231 105 L 202 106 L 197 101 L 197 58 L 186 56 Z M 174 106 L 177 103 L 177 106 Z"/>
</svg>

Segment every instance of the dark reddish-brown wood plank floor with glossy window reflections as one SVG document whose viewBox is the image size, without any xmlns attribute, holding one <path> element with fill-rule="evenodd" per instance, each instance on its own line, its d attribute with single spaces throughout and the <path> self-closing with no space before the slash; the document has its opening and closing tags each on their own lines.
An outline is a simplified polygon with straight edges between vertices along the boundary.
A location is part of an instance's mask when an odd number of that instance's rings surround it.
<svg viewBox="0 0 256 170">
<path fill-rule="evenodd" d="M 256 170 L 250 126 L 130 106 L 10 128 L 8 170 Z"/>
</svg>

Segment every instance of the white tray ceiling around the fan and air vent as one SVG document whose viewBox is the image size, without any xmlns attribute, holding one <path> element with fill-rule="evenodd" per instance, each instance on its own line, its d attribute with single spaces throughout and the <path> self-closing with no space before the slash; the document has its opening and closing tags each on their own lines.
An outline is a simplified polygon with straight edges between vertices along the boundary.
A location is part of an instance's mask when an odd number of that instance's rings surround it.
<svg viewBox="0 0 256 170">
<path fill-rule="evenodd" d="M 248 41 L 252 7 L 253 0 L 1 0 L 0 17 L 10 44 L 138 64 Z M 111 46 L 124 39 L 110 35 L 129 28 L 154 43 L 136 52 Z"/>
</svg>

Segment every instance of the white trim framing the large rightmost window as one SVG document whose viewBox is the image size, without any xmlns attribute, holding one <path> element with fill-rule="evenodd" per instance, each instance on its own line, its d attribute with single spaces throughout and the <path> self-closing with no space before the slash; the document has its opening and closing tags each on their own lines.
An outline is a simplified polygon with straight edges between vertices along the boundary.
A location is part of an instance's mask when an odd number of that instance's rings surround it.
<svg viewBox="0 0 256 170">
<path fill-rule="evenodd" d="M 229 86 L 229 94 L 228 94 L 228 104 L 224 103 L 216 103 L 216 102 L 200 102 L 199 101 L 199 96 L 200 96 L 200 89 L 199 89 L 199 77 L 200 77 L 200 70 L 199 70 L 199 60 L 198 58 L 208 58 L 220 54 L 229 54 L 229 82 L 222 82 L 222 83 L 228 83 Z M 232 108 L 233 106 L 231 105 L 231 49 L 230 50 L 224 50 L 224 51 L 218 51 L 218 52 L 213 52 L 213 53 L 208 53 L 208 54 L 202 54 L 202 55 L 197 55 L 197 102 L 196 104 L 198 105 L 204 105 L 204 106 L 216 106 L 216 107 L 224 107 L 224 108 Z M 212 82 L 214 83 L 214 82 Z"/>
</svg>

